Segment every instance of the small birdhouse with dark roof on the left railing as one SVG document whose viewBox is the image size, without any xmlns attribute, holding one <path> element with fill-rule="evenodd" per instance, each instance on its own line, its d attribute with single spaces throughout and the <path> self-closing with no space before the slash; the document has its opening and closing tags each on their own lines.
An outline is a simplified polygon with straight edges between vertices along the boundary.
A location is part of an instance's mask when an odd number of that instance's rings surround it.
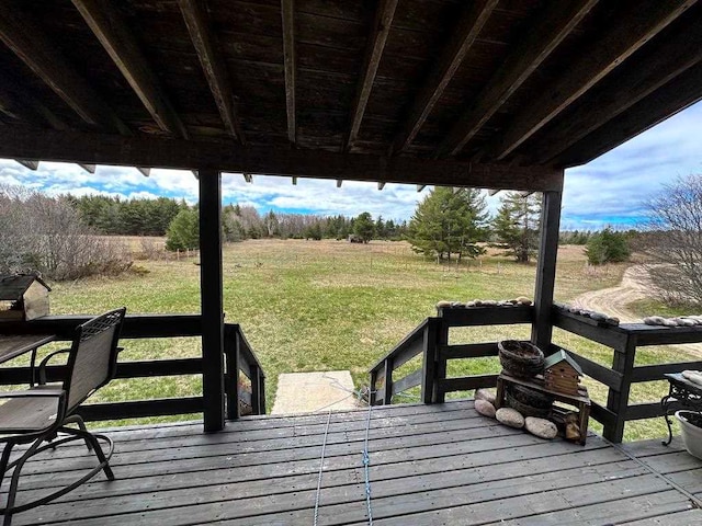
<svg viewBox="0 0 702 526">
<path fill-rule="evenodd" d="M 50 288 L 34 275 L 0 275 L 0 321 L 30 321 L 48 315 Z"/>
</svg>

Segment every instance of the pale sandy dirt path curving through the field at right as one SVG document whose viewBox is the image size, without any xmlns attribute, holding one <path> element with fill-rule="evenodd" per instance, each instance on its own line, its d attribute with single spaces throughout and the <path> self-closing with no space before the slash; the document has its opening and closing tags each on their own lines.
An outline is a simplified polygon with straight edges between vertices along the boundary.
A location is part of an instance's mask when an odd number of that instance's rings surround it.
<svg viewBox="0 0 702 526">
<path fill-rule="evenodd" d="M 592 290 L 578 296 L 573 305 L 581 309 L 603 312 L 619 318 L 622 323 L 641 323 L 641 317 L 629 309 L 629 305 L 647 297 L 650 281 L 644 265 L 633 265 L 626 268 L 622 283 L 616 287 Z M 655 312 L 654 312 L 655 313 Z M 687 343 L 684 345 L 668 345 L 683 353 L 702 357 L 702 343 Z"/>
</svg>

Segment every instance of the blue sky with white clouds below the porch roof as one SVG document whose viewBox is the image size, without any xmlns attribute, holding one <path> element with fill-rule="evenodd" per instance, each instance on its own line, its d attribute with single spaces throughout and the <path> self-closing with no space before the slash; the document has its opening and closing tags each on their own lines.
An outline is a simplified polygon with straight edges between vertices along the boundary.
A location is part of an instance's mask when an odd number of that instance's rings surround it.
<svg viewBox="0 0 702 526">
<path fill-rule="evenodd" d="M 678 176 L 702 173 L 702 102 L 690 106 L 638 137 L 590 163 L 566 171 L 562 228 L 598 229 L 611 225 L 630 228 L 642 219 L 642 203 Z M 73 164 L 42 162 L 31 171 L 0 159 L 0 184 L 21 184 L 49 194 L 110 194 L 131 197 L 177 197 L 194 203 L 197 182 L 191 172 L 152 170 L 144 178 L 136 169 L 98 167 L 91 175 Z M 254 176 L 248 184 L 240 174 L 223 176 L 224 203 L 256 206 L 261 213 L 343 214 L 370 211 L 373 217 L 409 219 L 429 188 L 415 185 Z M 489 199 L 499 205 L 499 194 Z"/>
</svg>

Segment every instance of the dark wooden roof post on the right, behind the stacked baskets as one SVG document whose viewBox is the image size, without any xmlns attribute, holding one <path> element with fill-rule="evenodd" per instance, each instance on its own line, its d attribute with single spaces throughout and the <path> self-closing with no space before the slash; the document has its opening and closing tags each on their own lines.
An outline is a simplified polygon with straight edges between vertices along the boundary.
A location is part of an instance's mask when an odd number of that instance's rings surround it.
<svg viewBox="0 0 702 526">
<path fill-rule="evenodd" d="M 531 341 L 544 351 L 548 350 L 553 333 L 551 308 L 553 307 L 553 289 L 556 281 L 561 197 L 561 191 L 544 192 L 541 208 L 541 242 L 536 266 L 534 320 L 531 328 Z"/>
</svg>

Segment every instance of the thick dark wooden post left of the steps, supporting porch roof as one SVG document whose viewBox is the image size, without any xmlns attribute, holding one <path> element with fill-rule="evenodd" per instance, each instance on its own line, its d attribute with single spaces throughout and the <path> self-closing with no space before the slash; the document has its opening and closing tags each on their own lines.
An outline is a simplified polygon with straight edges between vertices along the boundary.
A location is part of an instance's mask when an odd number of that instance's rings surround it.
<svg viewBox="0 0 702 526">
<path fill-rule="evenodd" d="M 200 170 L 200 302 L 205 431 L 224 427 L 222 174 Z"/>
</svg>

